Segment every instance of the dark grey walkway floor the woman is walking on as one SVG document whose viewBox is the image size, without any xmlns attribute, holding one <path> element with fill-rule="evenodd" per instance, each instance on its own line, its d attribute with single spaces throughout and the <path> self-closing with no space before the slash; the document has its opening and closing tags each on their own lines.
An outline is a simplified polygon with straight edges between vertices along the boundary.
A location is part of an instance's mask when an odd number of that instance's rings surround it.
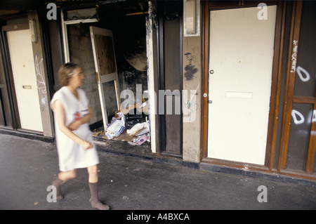
<svg viewBox="0 0 316 224">
<path fill-rule="evenodd" d="M 159 164 L 99 152 L 99 197 L 112 210 L 316 209 L 314 186 Z M 47 202 L 58 174 L 55 145 L 0 135 L 0 209 L 70 210 L 91 208 L 88 174 L 62 185 L 61 202 Z M 258 202 L 258 187 L 268 202 Z"/>
</svg>

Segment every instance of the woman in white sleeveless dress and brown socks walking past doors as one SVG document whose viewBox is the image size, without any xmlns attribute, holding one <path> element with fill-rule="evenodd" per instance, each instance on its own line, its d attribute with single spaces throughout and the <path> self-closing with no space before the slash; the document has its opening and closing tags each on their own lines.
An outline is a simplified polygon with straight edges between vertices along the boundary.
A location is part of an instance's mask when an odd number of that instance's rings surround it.
<svg viewBox="0 0 316 224">
<path fill-rule="evenodd" d="M 88 184 L 93 208 L 108 210 L 110 206 L 98 199 L 99 158 L 88 121 L 93 117 L 86 93 L 78 88 L 84 80 L 79 65 L 68 62 L 60 67 L 58 79 L 62 88 L 53 95 L 51 108 L 55 117 L 56 145 L 58 150 L 58 178 L 53 181 L 57 199 L 63 199 L 60 186 L 76 177 L 76 169 L 88 169 Z"/>
</svg>

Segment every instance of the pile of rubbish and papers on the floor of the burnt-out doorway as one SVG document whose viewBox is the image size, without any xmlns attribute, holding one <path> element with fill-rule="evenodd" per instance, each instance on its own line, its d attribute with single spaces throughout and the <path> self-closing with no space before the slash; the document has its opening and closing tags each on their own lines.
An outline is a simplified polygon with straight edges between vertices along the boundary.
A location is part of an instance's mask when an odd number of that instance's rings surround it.
<svg viewBox="0 0 316 224">
<path fill-rule="evenodd" d="M 104 135 L 103 138 L 124 140 L 130 145 L 150 142 L 150 121 L 144 113 L 146 109 L 146 103 L 143 103 L 116 112 L 106 131 L 94 132 L 93 136 Z"/>
</svg>

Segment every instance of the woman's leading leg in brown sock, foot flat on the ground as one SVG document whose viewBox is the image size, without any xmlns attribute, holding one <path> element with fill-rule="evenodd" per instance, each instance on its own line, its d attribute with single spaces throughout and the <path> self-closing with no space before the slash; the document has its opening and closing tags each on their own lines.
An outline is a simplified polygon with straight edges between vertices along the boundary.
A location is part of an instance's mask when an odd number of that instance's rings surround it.
<svg viewBox="0 0 316 224">
<path fill-rule="evenodd" d="M 98 166 L 90 166 L 88 167 L 89 174 L 89 188 L 91 193 L 90 203 L 93 208 L 100 210 L 109 210 L 110 206 L 107 204 L 103 204 L 99 201 L 98 198 Z"/>
</svg>

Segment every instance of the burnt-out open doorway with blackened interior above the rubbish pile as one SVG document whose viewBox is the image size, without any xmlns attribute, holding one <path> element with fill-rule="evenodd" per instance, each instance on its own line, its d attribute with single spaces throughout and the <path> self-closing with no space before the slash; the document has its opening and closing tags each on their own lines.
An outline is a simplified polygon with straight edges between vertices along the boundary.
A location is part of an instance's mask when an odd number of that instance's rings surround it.
<svg viewBox="0 0 316 224">
<path fill-rule="evenodd" d="M 122 2 L 96 8 L 98 8 L 97 11 L 90 8 L 90 14 L 88 9 L 85 11 L 86 8 L 63 8 L 62 35 L 65 60 L 77 62 L 84 70 L 85 80 L 81 88 L 86 91 L 95 115 L 90 121 L 90 126 L 98 132 L 98 135 L 100 131 L 103 136 L 98 136 L 97 139 L 102 140 L 105 137 L 105 126 L 110 124 L 112 117 L 119 109 L 124 110 L 126 100 L 129 101 L 129 105 L 142 104 L 147 100 L 143 93 L 148 90 L 146 54 L 148 2 L 144 2 L 144 4 Z M 82 13 L 83 11 L 84 13 Z M 78 18 L 78 16 L 82 17 Z M 100 51 L 102 46 L 91 41 L 91 29 L 93 29 L 92 33 L 97 29 L 112 32 L 117 75 L 115 79 L 103 80 L 102 86 L 98 86 L 98 82 L 101 81 L 100 78 L 107 75 L 102 76 L 99 74 L 100 71 L 96 70 L 94 56 L 97 56 L 98 60 L 103 60 L 104 55 L 93 54 L 93 47 L 96 51 Z M 102 88 L 103 93 L 99 91 L 98 87 Z M 128 91 L 131 94 L 124 95 L 122 91 Z M 121 103 L 124 105 L 119 107 Z M 103 110 L 103 105 L 106 105 L 106 110 Z M 103 112 L 105 113 L 103 114 Z M 143 116 L 141 122 L 148 119 L 147 114 L 141 113 L 141 116 Z M 128 117 L 127 114 L 126 117 Z M 105 121 L 106 119 L 107 121 Z M 154 136 L 151 137 L 154 138 Z M 150 150 L 149 142 L 143 145 L 147 145 Z"/>
</svg>

